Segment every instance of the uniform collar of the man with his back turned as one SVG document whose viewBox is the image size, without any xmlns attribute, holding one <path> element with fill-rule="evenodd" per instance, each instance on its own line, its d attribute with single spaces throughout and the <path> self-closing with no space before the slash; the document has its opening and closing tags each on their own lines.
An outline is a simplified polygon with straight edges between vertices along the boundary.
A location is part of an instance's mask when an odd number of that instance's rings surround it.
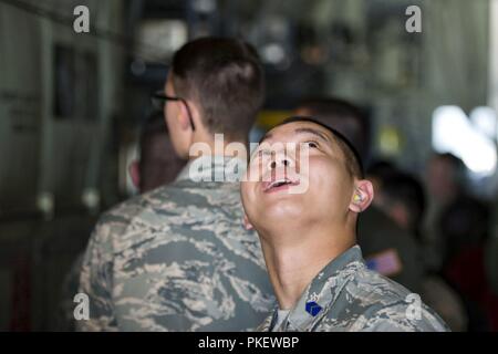
<svg viewBox="0 0 498 354">
<path fill-rule="evenodd" d="M 246 166 L 246 162 L 239 157 L 200 156 L 187 163 L 176 181 L 240 181 Z"/>
</svg>

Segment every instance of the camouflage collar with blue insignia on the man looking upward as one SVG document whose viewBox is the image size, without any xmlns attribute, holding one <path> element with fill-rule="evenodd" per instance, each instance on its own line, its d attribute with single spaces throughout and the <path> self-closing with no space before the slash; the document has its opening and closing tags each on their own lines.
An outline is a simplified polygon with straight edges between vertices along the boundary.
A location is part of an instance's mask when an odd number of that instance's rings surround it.
<svg viewBox="0 0 498 354">
<path fill-rule="evenodd" d="M 360 268 L 365 267 L 362 251 L 354 246 L 333 259 L 308 285 L 295 306 L 291 310 L 282 329 L 307 332 L 329 312 L 341 293 L 347 279 Z M 277 321 L 277 309 L 261 324 L 261 331 L 270 331 Z"/>
</svg>

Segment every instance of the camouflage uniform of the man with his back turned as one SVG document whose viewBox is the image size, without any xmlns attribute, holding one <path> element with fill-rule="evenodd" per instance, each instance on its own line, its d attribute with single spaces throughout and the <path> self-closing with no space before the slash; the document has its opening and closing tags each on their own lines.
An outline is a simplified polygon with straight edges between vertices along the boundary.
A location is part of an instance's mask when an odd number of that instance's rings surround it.
<svg viewBox="0 0 498 354">
<path fill-rule="evenodd" d="M 209 157 L 201 157 L 209 158 Z M 198 162 L 198 160 L 197 160 Z M 228 159 L 125 201 L 104 215 L 83 260 L 84 331 L 247 331 L 274 306 L 256 233 L 242 228 Z M 215 180 L 215 179 L 212 179 Z"/>
</svg>

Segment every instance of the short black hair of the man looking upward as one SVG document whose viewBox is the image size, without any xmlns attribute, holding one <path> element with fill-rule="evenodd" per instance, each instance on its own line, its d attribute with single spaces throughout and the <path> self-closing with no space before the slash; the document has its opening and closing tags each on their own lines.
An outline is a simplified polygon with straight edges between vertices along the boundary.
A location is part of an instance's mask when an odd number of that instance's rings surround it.
<svg viewBox="0 0 498 354">
<path fill-rule="evenodd" d="M 328 126 L 326 124 L 323 124 L 322 122 L 317 121 L 314 117 L 308 117 L 308 116 L 292 116 L 289 118 L 286 118 L 280 124 L 277 124 L 273 128 L 278 126 L 282 126 L 289 123 L 297 123 L 297 122 L 309 122 L 317 125 L 320 125 L 321 127 L 329 131 L 333 137 L 335 137 L 335 140 L 344 155 L 344 159 L 346 163 L 347 171 L 351 174 L 351 176 L 354 176 L 359 179 L 364 178 L 364 170 L 363 170 L 363 163 L 360 154 L 357 153 L 356 148 L 351 144 L 351 142 L 341 133 L 335 131 L 334 128 Z"/>
</svg>

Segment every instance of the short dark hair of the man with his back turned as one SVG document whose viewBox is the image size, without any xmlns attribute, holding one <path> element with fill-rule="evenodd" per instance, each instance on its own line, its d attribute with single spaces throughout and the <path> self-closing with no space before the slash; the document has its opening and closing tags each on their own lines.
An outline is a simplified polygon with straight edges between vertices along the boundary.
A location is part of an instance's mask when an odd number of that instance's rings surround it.
<svg viewBox="0 0 498 354">
<path fill-rule="evenodd" d="M 247 140 L 264 97 L 264 76 L 257 51 L 230 38 L 201 38 L 174 55 L 172 79 L 181 98 L 199 104 L 211 133 Z"/>
</svg>

